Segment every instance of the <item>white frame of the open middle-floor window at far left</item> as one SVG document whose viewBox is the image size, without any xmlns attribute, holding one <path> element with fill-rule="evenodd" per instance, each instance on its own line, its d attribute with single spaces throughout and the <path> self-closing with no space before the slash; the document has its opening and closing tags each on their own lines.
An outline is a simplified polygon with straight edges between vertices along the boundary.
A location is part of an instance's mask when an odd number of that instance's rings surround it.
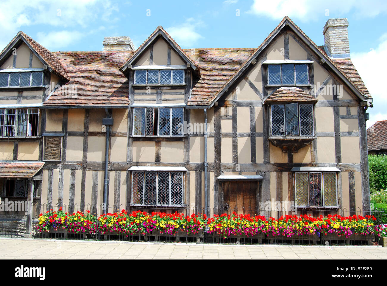
<svg viewBox="0 0 387 286">
<path fill-rule="evenodd" d="M 5 116 L 9 113 L 7 113 L 6 111 L 9 111 L 9 110 L 12 110 L 12 109 L 15 109 L 15 119 L 14 119 L 14 124 L 13 124 L 13 133 L 14 135 L 13 136 L 5 136 L 5 127 L 7 126 L 6 125 L 6 120 L 5 120 Z M 22 136 L 22 135 L 18 135 L 19 133 L 19 112 L 20 110 L 27 110 L 27 130 L 26 130 L 26 136 Z M 31 110 L 37 110 L 38 112 L 37 113 L 32 113 Z M 0 110 L 3 110 L 4 113 L 3 113 L 3 124 L 0 126 L 0 138 L 40 138 L 41 136 L 39 136 L 39 115 L 40 115 L 40 109 L 38 107 L 20 107 L 20 108 L 2 108 Z M 28 136 L 29 134 L 29 124 L 31 124 L 31 129 L 32 129 L 32 122 L 30 122 L 30 116 L 29 115 L 37 115 L 37 121 L 36 121 L 36 136 L 32 136 L 32 130 L 31 130 L 31 136 Z M 0 122 L 1 122 L 1 114 L 0 114 Z"/>
</svg>

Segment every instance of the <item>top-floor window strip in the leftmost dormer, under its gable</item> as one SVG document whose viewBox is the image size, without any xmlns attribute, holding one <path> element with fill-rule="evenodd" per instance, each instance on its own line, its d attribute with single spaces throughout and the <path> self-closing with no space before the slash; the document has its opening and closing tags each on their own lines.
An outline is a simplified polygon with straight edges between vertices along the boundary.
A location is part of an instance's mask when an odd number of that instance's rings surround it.
<svg viewBox="0 0 387 286">
<path fill-rule="evenodd" d="M 0 72 L 0 87 L 43 86 L 43 72 Z"/>
</svg>

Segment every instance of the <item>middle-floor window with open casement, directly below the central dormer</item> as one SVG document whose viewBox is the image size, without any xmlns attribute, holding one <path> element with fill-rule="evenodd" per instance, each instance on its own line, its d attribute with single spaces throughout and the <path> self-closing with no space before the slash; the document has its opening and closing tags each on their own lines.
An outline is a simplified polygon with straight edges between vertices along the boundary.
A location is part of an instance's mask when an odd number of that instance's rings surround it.
<svg viewBox="0 0 387 286">
<path fill-rule="evenodd" d="M 135 107 L 133 136 L 183 136 L 183 107 Z"/>
</svg>

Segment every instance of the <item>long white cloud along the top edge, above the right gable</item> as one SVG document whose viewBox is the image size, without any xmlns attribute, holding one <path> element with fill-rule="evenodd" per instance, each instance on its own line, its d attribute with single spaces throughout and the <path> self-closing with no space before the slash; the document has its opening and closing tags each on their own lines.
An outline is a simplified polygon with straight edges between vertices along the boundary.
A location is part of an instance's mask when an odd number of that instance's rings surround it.
<svg viewBox="0 0 387 286">
<path fill-rule="evenodd" d="M 353 11 L 356 17 L 374 17 L 387 12 L 384 0 L 358 1 L 358 0 L 254 0 L 248 13 L 258 16 L 266 16 L 272 19 L 282 19 L 289 16 L 303 22 L 318 19 L 318 17 L 329 17 L 330 14 L 346 14 Z"/>
</svg>

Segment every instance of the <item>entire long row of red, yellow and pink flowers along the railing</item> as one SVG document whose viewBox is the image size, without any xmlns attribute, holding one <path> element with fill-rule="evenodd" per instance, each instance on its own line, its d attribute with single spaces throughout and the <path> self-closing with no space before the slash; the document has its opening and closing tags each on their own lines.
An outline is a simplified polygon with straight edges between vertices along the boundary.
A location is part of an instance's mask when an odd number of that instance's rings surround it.
<svg viewBox="0 0 387 286">
<path fill-rule="evenodd" d="M 81 212 L 67 214 L 62 211 L 50 210 L 41 214 L 36 224 L 38 233 L 65 230 L 69 233 L 86 234 L 117 234 L 117 235 L 171 235 L 171 236 L 198 236 L 202 235 L 204 227 L 207 233 L 213 236 L 229 237 L 306 237 L 319 238 L 322 235 L 334 234 L 346 238 L 356 235 L 379 235 L 382 226 L 375 226 L 375 217 L 366 215 L 342 217 L 328 215 L 327 217 L 313 218 L 308 215 L 285 215 L 279 219 L 264 216 L 243 214 L 222 214 L 208 218 L 205 215 L 166 214 L 162 212 L 135 211 L 128 213 L 125 210 L 114 214 L 103 214 L 98 217 Z"/>
</svg>

